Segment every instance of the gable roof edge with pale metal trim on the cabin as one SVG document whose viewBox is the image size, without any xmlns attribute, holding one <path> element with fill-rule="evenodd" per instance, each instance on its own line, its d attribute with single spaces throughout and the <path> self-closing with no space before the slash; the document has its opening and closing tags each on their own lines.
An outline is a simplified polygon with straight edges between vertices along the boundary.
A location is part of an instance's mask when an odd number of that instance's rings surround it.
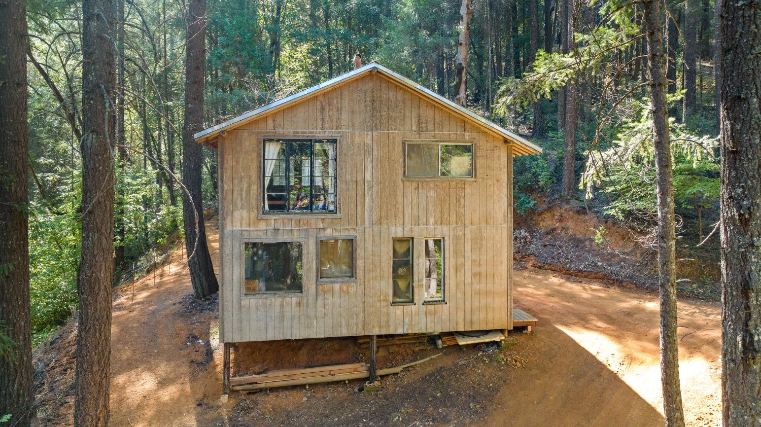
<svg viewBox="0 0 761 427">
<path fill-rule="evenodd" d="M 525 139 L 521 135 L 511 132 L 502 126 L 499 126 L 498 124 L 493 123 L 476 113 L 473 113 L 473 111 L 470 111 L 465 107 L 455 104 L 451 100 L 448 100 L 446 97 L 442 97 L 440 94 L 425 88 L 425 86 L 422 86 L 422 84 L 417 84 L 415 81 L 412 81 L 409 78 L 406 78 L 391 69 L 387 69 L 377 62 L 370 62 L 367 65 L 359 67 L 358 69 L 353 69 L 350 72 L 346 72 L 342 75 L 331 78 L 330 80 L 323 81 L 322 83 L 312 86 L 311 88 L 307 88 L 303 91 L 288 95 L 287 97 L 281 98 L 279 100 L 275 100 L 270 104 L 256 108 L 256 110 L 250 110 L 247 113 L 241 114 L 240 116 L 204 129 L 201 132 L 193 135 L 193 137 L 197 142 L 210 142 L 212 139 L 215 139 L 218 135 L 220 135 L 222 131 L 235 129 L 238 126 L 244 125 L 244 123 L 248 123 L 254 119 L 259 119 L 269 113 L 274 113 L 275 111 L 282 110 L 283 108 L 290 106 L 290 104 L 298 104 L 298 102 L 301 102 L 302 100 L 323 93 L 324 91 L 329 91 L 331 88 L 334 88 L 339 84 L 354 80 L 355 78 L 359 78 L 362 75 L 366 75 L 371 72 L 380 73 L 380 75 L 384 75 L 384 77 L 390 78 L 390 80 L 395 81 L 408 90 L 433 101 L 435 104 L 438 104 L 453 113 L 457 113 L 460 116 L 463 116 L 463 118 L 468 119 L 468 121 L 474 125 L 479 126 L 480 128 L 485 129 L 492 134 L 507 139 L 508 143 L 513 145 L 514 155 L 538 155 L 542 152 L 542 148 L 539 145 L 530 142 L 528 139 Z"/>
</svg>

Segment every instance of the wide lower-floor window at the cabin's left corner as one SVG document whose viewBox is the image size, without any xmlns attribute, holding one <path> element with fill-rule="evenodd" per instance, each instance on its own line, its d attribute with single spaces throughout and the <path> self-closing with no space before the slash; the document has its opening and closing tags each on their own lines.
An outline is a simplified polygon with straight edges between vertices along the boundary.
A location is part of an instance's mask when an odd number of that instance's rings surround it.
<svg viewBox="0 0 761 427">
<path fill-rule="evenodd" d="M 304 245 L 299 241 L 244 244 L 244 295 L 302 292 Z"/>
</svg>

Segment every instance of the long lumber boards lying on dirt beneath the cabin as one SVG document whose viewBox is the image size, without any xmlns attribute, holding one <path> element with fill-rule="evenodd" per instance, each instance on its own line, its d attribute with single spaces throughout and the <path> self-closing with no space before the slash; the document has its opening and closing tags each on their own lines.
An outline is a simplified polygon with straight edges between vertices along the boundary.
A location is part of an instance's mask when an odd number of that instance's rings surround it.
<svg viewBox="0 0 761 427">
<path fill-rule="evenodd" d="M 379 376 L 398 374 L 404 368 L 426 362 L 438 355 L 441 355 L 441 353 L 418 360 L 416 362 L 408 363 L 406 365 L 395 366 L 393 368 L 378 369 L 377 374 Z M 365 363 L 317 366 L 314 368 L 280 369 L 278 371 L 267 372 L 266 374 L 230 378 L 230 389 L 263 390 L 265 388 L 285 387 L 289 385 L 319 384 L 332 381 L 355 380 L 360 378 L 368 378 L 369 376 L 370 367 Z"/>
</svg>

